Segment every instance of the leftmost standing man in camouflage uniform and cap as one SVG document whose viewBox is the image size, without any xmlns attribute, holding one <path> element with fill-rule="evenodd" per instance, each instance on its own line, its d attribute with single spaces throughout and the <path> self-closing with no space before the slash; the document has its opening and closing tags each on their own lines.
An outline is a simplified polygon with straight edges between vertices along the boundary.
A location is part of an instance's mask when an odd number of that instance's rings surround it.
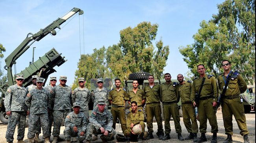
<svg viewBox="0 0 256 143">
<path fill-rule="evenodd" d="M 6 108 L 6 114 L 9 116 L 6 130 L 6 141 L 8 143 L 13 143 L 13 134 L 17 124 L 18 143 L 25 143 L 23 138 L 25 134 L 26 114 L 28 114 L 28 112 L 25 104 L 27 90 L 22 86 L 23 81 L 23 75 L 17 75 L 17 84 L 10 86 L 5 94 L 4 107 Z"/>
</svg>

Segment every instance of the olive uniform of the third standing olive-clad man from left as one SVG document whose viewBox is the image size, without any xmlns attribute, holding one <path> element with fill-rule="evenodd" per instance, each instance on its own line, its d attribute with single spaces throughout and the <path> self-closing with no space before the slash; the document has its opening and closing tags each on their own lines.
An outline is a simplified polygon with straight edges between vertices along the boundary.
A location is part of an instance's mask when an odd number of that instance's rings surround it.
<svg viewBox="0 0 256 143">
<path fill-rule="evenodd" d="M 153 130 L 153 118 L 155 116 L 158 133 L 163 133 L 163 124 L 161 117 L 161 106 L 160 106 L 160 85 L 154 84 L 151 88 L 149 85 L 146 85 L 143 89 L 146 96 L 146 115 L 147 115 L 147 127 L 148 133 L 154 132 Z"/>
</svg>

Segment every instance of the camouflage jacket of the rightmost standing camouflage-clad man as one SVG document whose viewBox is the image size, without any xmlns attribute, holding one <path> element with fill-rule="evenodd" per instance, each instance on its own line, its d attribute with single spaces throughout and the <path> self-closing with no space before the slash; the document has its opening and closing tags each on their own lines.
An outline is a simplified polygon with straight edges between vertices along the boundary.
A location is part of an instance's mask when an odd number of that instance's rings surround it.
<svg viewBox="0 0 256 143">
<path fill-rule="evenodd" d="M 93 109 L 95 109 L 98 105 L 98 101 L 100 99 L 103 99 L 106 104 L 106 109 L 108 109 L 108 94 L 109 90 L 106 87 L 103 87 L 101 90 L 97 87 L 92 94 L 92 100 L 93 100 Z"/>
</svg>

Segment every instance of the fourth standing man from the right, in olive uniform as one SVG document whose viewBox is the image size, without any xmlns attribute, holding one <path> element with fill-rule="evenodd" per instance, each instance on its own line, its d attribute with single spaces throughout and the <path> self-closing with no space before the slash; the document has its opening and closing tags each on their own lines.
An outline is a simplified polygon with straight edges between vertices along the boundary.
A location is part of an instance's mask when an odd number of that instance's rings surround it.
<svg viewBox="0 0 256 143">
<path fill-rule="evenodd" d="M 160 86 L 160 95 L 163 102 L 163 112 L 165 118 L 165 136 L 162 140 L 171 139 L 170 118 L 172 116 L 176 133 L 178 133 L 178 139 L 182 141 L 184 138 L 181 135 L 182 130 L 180 126 L 180 114 L 177 105 L 178 100 L 180 99 L 178 96 L 178 83 L 171 81 L 171 74 L 166 73 L 164 76 L 166 82 Z"/>
</svg>

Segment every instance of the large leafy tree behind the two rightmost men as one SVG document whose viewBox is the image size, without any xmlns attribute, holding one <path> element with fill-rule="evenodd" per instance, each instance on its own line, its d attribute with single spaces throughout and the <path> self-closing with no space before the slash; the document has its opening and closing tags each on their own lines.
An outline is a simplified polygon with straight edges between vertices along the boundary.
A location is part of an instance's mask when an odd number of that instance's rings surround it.
<svg viewBox="0 0 256 143">
<path fill-rule="evenodd" d="M 179 47 L 180 53 L 195 76 L 202 63 L 217 77 L 223 72 L 221 62 L 228 59 L 247 83 L 255 83 L 255 0 L 226 0 L 217 7 L 218 14 L 200 23 L 195 43 Z"/>
</svg>

